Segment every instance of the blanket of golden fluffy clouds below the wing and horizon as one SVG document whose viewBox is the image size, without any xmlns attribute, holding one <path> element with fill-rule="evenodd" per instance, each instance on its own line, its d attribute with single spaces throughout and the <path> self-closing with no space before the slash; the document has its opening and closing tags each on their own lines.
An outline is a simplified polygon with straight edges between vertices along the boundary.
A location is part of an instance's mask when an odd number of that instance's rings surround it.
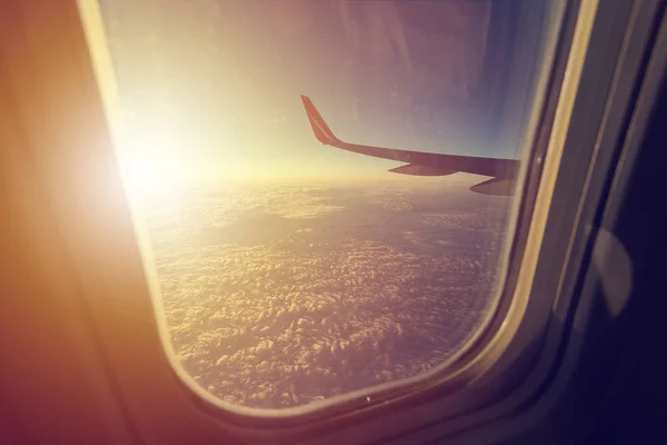
<svg viewBox="0 0 667 445">
<path fill-rule="evenodd" d="M 171 226 L 157 212 L 157 268 L 179 360 L 220 398 L 263 408 L 442 363 L 486 312 L 505 201 L 420 205 L 428 196 L 273 187 L 192 196 L 172 208 Z M 338 210 L 271 212 L 299 204 Z M 226 241 L 201 244 L 198 230 L 220 219 L 233 220 Z"/>
</svg>

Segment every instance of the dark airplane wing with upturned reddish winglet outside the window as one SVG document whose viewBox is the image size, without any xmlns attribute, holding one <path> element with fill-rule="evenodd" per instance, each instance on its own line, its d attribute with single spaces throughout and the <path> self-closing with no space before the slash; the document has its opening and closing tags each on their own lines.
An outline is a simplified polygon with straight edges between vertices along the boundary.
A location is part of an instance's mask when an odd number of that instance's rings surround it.
<svg viewBox="0 0 667 445">
<path fill-rule="evenodd" d="M 407 162 L 405 166 L 392 168 L 391 172 L 416 176 L 446 176 L 458 171 L 491 176 L 492 179 L 477 184 L 471 191 L 511 196 L 519 172 L 518 159 L 481 158 L 474 156 L 441 155 L 422 151 L 399 150 L 348 144 L 338 139 L 321 117 L 308 96 L 301 95 L 310 127 L 317 140 L 323 145 L 338 147 L 347 151 L 372 156 L 375 158 L 390 159 Z"/>
</svg>

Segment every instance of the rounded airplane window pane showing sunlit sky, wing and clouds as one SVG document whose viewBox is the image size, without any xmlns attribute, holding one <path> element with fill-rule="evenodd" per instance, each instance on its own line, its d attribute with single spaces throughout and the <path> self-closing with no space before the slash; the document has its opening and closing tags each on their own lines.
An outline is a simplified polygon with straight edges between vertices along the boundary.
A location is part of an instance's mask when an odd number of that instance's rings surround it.
<svg viewBox="0 0 667 445">
<path fill-rule="evenodd" d="M 296 407 L 465 349 L 546 57 L 521 11 L 547 3 L 100 1 L 158 317 L 197 385 Z"/>
</svg>

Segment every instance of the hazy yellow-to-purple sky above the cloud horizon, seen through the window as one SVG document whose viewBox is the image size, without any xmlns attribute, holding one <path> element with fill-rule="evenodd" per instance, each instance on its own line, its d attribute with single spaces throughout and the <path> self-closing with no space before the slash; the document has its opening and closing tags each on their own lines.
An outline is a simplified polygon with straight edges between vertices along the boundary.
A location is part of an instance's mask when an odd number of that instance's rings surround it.
<svg viewBox="0 0 667 445">
<path fill-rule="evenodd" d="M 507 78 L 531 73 L 512 67 L 511 23 L 490 20 L 516 3 L 102 1 L 122 149 L 162 180 L 400 176 L 387 172 L 397 162 L 321 146 L 308 95 L 349 142 L 518 157 L 525 119 L 498 131 Z"/>
</svg>

